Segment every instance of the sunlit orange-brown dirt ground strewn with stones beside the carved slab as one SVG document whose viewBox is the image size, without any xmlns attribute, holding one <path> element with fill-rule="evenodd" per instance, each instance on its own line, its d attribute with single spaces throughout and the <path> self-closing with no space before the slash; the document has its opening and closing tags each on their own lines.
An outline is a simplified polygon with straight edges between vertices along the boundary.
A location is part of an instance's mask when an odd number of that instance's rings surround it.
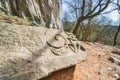
<svg viewBox="0 0 120 80">
<path fill-rule="evenodd" d="M 99 43 L 81 42 L 88 58 L 76 66 L 73 80 L 120 80 L 120 66 L 110 61 L 116 48 Z M 120 54 L 117 54 L 119 57 Z"/>
</svg>

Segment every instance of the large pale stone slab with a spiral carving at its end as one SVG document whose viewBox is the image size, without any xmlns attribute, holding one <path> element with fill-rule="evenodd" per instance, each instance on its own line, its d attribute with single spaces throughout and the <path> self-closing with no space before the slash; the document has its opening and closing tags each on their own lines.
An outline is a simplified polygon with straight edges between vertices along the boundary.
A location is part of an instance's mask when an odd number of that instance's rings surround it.
<svg viewBox="0 0 120 80">
<path fill-rule="evenodd" d="M 0 22 L 0 80 L 38 80 L 85 59 L 71 33 Z"/>
</svg>

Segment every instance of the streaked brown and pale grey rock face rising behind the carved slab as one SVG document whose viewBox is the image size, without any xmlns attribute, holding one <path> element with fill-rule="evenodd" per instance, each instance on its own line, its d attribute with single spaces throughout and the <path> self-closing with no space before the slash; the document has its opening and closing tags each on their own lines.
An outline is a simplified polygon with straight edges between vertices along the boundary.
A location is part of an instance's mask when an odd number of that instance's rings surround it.
<svg viewBox="0 0 120 80">
<path fill-rule="evenodd" d="M 62 29 L 61 0 L 0 0 L 0 12 Z"/>
</svg>

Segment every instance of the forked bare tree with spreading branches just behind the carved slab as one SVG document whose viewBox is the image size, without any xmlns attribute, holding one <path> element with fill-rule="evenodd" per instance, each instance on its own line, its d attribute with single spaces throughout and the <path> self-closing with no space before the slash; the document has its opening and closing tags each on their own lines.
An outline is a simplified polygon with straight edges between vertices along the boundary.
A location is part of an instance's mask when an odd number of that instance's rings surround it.
<svg viewBox="0 0 120 80">
<path fill-rule="evenodd" d="M 100 13 L 102 13 L 110 4 L 111 0 L 74 0 L 73 2 L 76 2 L 79 5 L 75 5 L 71 0 L 64 0 L 73 10 L 75 10 L 77 15 L 77 23 L 74 27 L 73 34 L 77 35 L 79 31 L 80 23 L 83 22 L 86 19 L 93 18 Z M 88 11 L 88 8 L 90 7 L 88 4 L 91 3 L 91 10 Z M 93 4 L 94 3 L 94 4 Z"/>
</svg>

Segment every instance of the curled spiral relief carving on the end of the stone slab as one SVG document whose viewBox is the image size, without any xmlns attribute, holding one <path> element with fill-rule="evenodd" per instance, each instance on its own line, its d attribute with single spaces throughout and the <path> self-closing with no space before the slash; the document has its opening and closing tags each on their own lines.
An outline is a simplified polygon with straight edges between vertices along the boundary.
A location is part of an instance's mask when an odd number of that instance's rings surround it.
<svg viewBox="0 0 120 80">
<path fill-rule="evenodd" d="M 56 34 L 53 38 L 54 43 L 47 41 L 48 45 L 51 46 L 51 51 L 56 55 L 64 55 L 70 48 L 74 53 L 79 53 L 81 50 L 80 42 L 72 33 L 65 33 L 64 35 Z"/>
</svg>

